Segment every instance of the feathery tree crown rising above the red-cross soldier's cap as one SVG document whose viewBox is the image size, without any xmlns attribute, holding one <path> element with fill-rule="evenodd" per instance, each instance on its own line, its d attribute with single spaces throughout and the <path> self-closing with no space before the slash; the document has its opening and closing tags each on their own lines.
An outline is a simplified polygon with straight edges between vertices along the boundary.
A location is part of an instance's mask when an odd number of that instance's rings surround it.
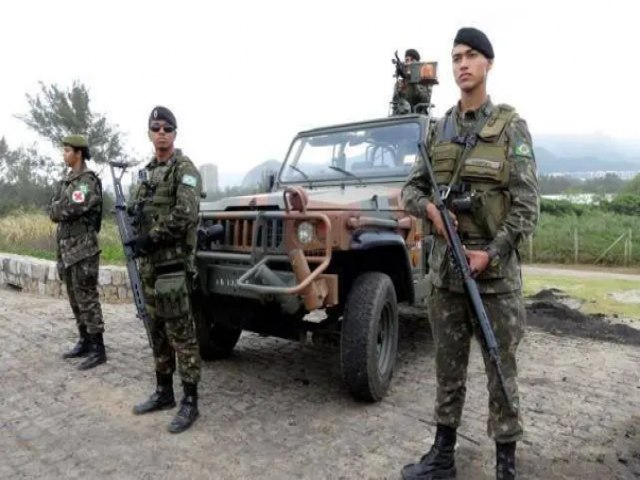
<svg viewBox="0 0 640 480">
<path fill-rule="evenodd" d="M 18 118 L 54 145 L 60 145 L 66 135 L 82 134 L 89 139 L 96 163 L 123 157 L 121 133 L 103 114 L 91 110 L 89 90 L 82 83 L 74 81 L 64 89 L 40 82 L 40 91 L 27 94 L 27 102 L 29 112 Z"/>
</svg>

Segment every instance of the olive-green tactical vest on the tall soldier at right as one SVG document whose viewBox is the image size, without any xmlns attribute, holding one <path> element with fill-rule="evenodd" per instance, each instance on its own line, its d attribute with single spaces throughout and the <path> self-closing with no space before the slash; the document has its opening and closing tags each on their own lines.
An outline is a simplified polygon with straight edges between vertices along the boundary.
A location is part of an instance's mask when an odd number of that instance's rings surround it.
<svg viewBox="0 0 640 480">
<path fill-rule="evenodd" d="M 490 241 L 511 208 L 506 128 L 516 112 L 497 105 L 480 130 L 472 132 L 475 144 L 464 158 L 454 115 L 449 110 L 438 125 L 432 149 L 436 181 L 440 188 L 450 189 L 447 205 L 457 216 L 463 240 Z"/>
</svg>

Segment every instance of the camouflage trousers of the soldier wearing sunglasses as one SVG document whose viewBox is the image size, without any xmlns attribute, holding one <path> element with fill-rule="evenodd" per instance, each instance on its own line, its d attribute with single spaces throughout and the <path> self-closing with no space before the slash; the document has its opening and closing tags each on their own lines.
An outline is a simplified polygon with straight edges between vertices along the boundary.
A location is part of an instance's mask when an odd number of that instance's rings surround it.
<svg viewBox="0 0 640 480">
<path fill-rule="evenodd" d="M 200 350 L 191 306 L 190 274 L 184 270 L 158 275 L 141 264 L 145 303 L 151 318 L 153 357 L 158 373 L 176 370 L 183 382 L 200 381 Z"/>
</svg>

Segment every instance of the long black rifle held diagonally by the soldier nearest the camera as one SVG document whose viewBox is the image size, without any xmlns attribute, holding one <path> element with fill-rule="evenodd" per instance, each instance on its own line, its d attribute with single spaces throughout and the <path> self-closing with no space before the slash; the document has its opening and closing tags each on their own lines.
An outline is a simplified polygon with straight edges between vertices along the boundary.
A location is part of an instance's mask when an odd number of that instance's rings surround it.
<svg viewBox="0 0 640 480">
<path fill-rule="evenodd" d="M 420 155 L 422 156 L 422 159 L 425 163 L 427 175 L 429 176 L 429 182 L 433 186 L 433 203 L 440 212 L 440 218 L 442 218 L 442 222 L 444 223 L 444 228 L 447 232 L 447 240 L 449 241 L 449 251 L 451 253 L 455 269 L 462 277 L 464 290 L 467 294 L 467 299 L 469 300 L 471 310 L 478 320 L 478 324 L 480 325 L 480 331 L 482 332 L 482 338 L 484 339 L 487 354 L 489 355 L 489 359 L 493 364 L 493 368 L 495 368 L 496 370 L 496 375 L 498 376 L 498 382 L 500 383 L 502 395 L 504 396 L 504 399 L 507 402 L 509 408 L 513 409 L 511 398 L 509 396 L 509 392 L 507 392 L 507 388 L 505 385 L 504 375 L 502 374 L 498 343 L 496 342 L 496 336 L 493 333 L 493 329 L 491 328 L 491 323 L 489 322 L 487 311 L 482 304 L 482 298 L 480 297 L 478 284 L 471 276 L 471 270 L 469 269 L 469 264 L 467 263 L 467 258 L 464 254 L 462 241 L 460 240 L 458 232 L 453 226 L 453 221 L 451 220 L 449 209 L 445 205 L 442 194 L 440 193 L 440 189 L 436 182 L 436 176 L 433 173 L 433 167 L 431 166 L 431 162 L 429 161 L 429 155 L 427 154 L 425 144 L 422 142 L 419 143 L 418 148 L 420 150 Z"/>
</svg>

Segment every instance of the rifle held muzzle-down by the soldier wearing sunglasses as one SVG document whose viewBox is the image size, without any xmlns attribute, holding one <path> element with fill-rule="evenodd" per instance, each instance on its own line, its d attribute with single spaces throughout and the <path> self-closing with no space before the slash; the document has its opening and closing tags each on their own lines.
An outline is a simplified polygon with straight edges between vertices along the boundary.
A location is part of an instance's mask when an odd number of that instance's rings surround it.
<svg viewBox="0 0 640 480">
<path fill-rule="evenodd" d="M 149 340 L 149 346 L 153 349 L 153 342 L 151 340 L 151 319 L 147 312 L 142 281 L 140 280 L 140 272 L 138 271 L 138 264 L 134 258 L 134 252 L 132 246 L 128 243 L 135 237 L 133 233 L 132 219 L 127 214 L 127 204 L 124 199 L 124 193 L 122 191 L 122 176 L 127 170 L 129 164 L 125 162 L 109 162 L 111 168 L 111 178 L 113 178 L 113 189 L 116 197 L 116 222 L 118 223 L 118 230 L 120 231 L 120 239 L 122 240 L 122 248 L 124 249 L 124 256 L 127 260 L 127 273 L 129 274 L 129 282 L 131 283 L 131 292 L 133 293 L 133 301 L 136 305 L 137 317 L 142 320 L 144 329 L 147 332 L 147 338 Z M 116 175 L 116 168 L 120 169 L 120 175 Z"/>
</svg>

